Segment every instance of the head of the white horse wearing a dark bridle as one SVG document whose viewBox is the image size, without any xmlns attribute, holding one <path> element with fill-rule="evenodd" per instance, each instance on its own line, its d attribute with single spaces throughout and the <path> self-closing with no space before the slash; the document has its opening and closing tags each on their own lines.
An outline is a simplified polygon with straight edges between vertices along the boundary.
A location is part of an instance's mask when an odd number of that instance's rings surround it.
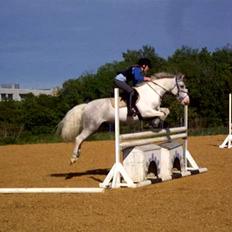
<svg viewBox="0 0 232 232">
<path fill-rule="evenodd" d="M 188 89 L 186 88 L 184 83 L 184 75 L 175 75 L 175 82 L 175 86 L 171 90 L 172 94 L 174 94 L 177 97 L 181 104 L 188 105 L 190 102 L 190 98 L 188 95 Z"/>
</svg>

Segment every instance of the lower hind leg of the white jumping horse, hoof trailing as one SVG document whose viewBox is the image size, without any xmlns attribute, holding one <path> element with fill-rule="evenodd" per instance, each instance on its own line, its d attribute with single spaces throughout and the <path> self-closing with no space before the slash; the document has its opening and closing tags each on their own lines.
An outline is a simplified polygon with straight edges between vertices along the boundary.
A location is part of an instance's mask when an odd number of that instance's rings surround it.
<svg viewBox="0 0 232 232">
<path fill-rule="evenodd" d="M 81 149 L 81 144 L 82 142 L 88 138 L 93 131 L 84 129 L 76 138 L 75 138 L 75 146 L 73 149 L 73 154 L 70 160 L 70 164 L 75 163 L 78 158 L 80 157 L 80 149 Z"/>
</svg>

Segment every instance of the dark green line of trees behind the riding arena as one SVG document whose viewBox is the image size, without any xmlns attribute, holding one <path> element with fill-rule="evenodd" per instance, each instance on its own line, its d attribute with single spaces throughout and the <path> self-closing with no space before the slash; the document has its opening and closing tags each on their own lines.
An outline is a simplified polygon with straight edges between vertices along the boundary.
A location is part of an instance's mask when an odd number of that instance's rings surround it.
<svg viewBox="0 0 232 232">
<path fill-rule="evenodd" d="M 228 94 L 232 91 L 232 49 L 230 45 L 210 52 L 207 48 L 181 47 L 170 57 L 160 57 L 151 46 L 122 53 L 121 61 L 104 64 L 96 73 L 85 73 L 63 83 L 57 96 L 33 96 L 22 101 L 0 102 L 0 143 L 14 143 L 33 136 L 53 136 L 56 125 L 73 106 L 97 98 L 113 96 L 114 77 L 120 70 L 135 64 L 141 57 L 152 62 L 150 74 L 183 73 L 189 90 L 189 126 L 192 130 L 226 127 Z M 170 108 L 167 121 L 175 126 L 182 109 L 167 94 L 163 105 Z"/>
</svg>

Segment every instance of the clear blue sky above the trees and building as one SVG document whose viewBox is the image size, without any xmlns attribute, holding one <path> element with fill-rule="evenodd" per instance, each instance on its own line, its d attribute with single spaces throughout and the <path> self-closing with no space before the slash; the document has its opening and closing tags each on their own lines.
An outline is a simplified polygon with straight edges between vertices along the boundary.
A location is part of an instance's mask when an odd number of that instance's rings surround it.
<svg viewBox="0 0 232 232">
<path fill-rule="evenodd" d="M 232 44 L 231 0 L 0 0 L 0 84 L 51 88 L 150 45 Z"/>
</svg>

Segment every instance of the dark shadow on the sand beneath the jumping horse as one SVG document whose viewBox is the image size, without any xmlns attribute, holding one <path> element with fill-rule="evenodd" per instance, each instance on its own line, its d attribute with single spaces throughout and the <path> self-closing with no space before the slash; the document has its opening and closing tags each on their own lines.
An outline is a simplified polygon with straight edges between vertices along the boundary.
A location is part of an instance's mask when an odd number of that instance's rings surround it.
<svg viewBox="0 0 232 232">
<path fill-rule="evenodd" d="M 51 177 L 62 177 L 65 180 L 71 179 L 73 177 L 80 177 L 80 176 L 89 176 L 90 178 L 97 180 L 99 182 L 102 182 L 102 180 L 95 178 L 92 175 L 104 175 L 106 176 L 110 170 L 107 168 L 103 169 L 93 169 L 93 170 L 87 170 L 85 172 L 68 172 L 68 173 L 52 173 L 49 176 Z"/>
</svg>

